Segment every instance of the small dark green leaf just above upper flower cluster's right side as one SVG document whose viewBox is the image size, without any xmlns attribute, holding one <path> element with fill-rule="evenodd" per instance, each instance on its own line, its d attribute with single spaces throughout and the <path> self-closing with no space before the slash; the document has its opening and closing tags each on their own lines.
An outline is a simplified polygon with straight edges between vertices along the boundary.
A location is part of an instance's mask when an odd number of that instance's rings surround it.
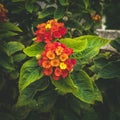
<svg viewBox="0 0 120 120">
<path fill-rule="evenodd" d="M 66 11 L 65 7 L 58 6 L 58 8 L 54 12 L 54 18 L 56 18 L 58 20 L 63 18 L 64 14 L 65 14 L 65 11 Z"/>
</svg>

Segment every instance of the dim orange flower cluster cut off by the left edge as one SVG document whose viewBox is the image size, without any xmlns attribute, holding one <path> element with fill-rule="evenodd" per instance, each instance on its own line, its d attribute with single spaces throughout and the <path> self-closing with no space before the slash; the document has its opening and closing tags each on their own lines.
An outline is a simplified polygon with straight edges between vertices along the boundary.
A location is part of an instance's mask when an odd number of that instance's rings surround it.
<svg viewBox="0 0 120 120">
<path fill-rule="evenodd" d="M 7 9 L 4 8 L 2 4 L 0 4 L 0 22 L 4 22 L 7 20 Z"/>
</svg>

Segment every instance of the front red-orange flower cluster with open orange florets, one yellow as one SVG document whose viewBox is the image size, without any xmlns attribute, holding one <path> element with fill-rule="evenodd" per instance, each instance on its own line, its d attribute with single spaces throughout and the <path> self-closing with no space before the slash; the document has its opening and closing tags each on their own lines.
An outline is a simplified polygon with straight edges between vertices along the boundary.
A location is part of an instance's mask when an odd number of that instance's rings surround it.
<svg viewBox="0 0 120 120">
<path fill-rule="evenodd" d="M 54 80 L 59 80 L 61 77 L 66 78 L 76 64 L 75 59 L 69 58 L 72 53 L 73 50 L 62 43 L 46 44 L 45 50 L 38 60 L 39 66 L 43 67 L 43 74 L 52 75 Z"/>
</svg>

